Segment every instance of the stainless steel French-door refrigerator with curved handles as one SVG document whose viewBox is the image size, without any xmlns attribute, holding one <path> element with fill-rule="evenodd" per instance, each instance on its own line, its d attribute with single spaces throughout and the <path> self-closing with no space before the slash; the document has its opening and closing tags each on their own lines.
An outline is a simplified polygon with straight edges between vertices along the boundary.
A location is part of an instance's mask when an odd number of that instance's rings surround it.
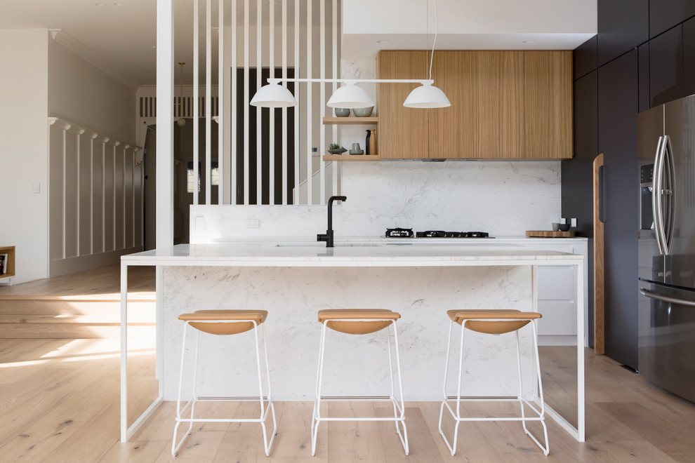
<svg viewBox="0 0 695 463">
<path fill-rule="evenodd" d="M 638 370 L 695 402 L 695 95 L 638 123 Z"/>
</svg>

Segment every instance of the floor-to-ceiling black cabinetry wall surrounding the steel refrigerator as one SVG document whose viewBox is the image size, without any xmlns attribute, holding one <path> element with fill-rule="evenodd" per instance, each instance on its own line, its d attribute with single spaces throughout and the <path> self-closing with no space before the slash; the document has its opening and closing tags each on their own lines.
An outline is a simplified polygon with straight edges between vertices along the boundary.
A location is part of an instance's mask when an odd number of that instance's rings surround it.
<svg viewBox="0 0 695 463">
<path fill-rule="evenodd" d="M 638 369 L 637 114 L 695 93 L 695 0 L 598 0 L 597 13 L 597 36 L 574 51 L 574 159 L 562 161 L 562 216 L 578 217 L 580 234 L 592 237 L 588 166 L 603 152 L 605 351 Z"/>
</svg>

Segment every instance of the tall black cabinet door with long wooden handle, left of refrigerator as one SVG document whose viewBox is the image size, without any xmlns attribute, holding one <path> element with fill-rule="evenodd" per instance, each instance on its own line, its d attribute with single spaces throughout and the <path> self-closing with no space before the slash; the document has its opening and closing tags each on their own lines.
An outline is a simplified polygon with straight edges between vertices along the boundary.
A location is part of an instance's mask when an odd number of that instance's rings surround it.
<svg viewBox="0 0 695 463">
<path fill-rule="evenodd" d="M 598 69 L 599 152 L 606 192 L 606 354 L 637 368 L 637 50 Z"/>
</svg>

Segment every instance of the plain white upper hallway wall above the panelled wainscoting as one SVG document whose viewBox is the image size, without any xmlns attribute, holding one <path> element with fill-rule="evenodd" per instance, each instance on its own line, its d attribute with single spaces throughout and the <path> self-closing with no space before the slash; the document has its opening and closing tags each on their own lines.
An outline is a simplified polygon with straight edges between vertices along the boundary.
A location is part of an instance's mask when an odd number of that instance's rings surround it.
<svg viewBox="0 0 695 463">
<path fill-rule="evenodd" d="M 48 41 L 48 116 L 135 145 L 135 91 Z"/>
</svg>

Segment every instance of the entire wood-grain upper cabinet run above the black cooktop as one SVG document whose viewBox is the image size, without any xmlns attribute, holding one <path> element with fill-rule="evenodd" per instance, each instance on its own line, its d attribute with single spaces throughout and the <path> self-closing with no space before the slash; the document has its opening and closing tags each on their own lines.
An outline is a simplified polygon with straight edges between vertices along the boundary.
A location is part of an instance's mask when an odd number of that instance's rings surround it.
<svg viewBox="0 0 695 463">
<path fill-rule="evenodd" d="M 416 85 L 378 86 L 382 159 L 567 159 L 571 51 L 436 51 L 432 79 L 451 107 L 403 107 Z M 381 51 L 380 79 L 427 79 L 427 51 Z"/>
</svg>

